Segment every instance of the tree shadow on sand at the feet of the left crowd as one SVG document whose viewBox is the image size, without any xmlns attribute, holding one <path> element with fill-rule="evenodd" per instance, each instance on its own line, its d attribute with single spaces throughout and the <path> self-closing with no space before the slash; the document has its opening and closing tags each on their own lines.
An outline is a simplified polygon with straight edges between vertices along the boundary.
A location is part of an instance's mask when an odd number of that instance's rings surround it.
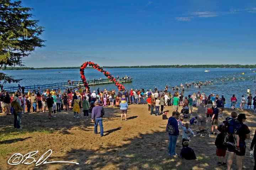
<svg viewBox="0 0 256 170">
<path fill-rule="evenodd" d="M 114 119 L 119 118 L 119 108 L 107 108 L 105 115 L 103 117 L 104 122 L 113 121 Z M 48 113 L 32 113 L 32 114 L 23 114 L 22 115 L 22 128 L 30 129 L 32 132 L 35 128 L 42 128 L 53 130 L 56 133 L 70 134 L 69 130 L 73 127 L 78 127 L 81 130 L 87 130 L 93 124 L 91 119 L 86 119 L 82 114 L 82 109 L 80 110 L 80 119 L 73 118 L 73 111 L 69 113 L 62 112 L 57 113 L 56 118 L 48 119 Z M 60 116 L 61 115 L 61 116 Z M 89 117 L 91 113 L 89 114 Z M 12 128 L 13 126 L 13 116 L 2 115 L 1 116 L 1 126 L 0 133 L 6 131 L 6 127 Z M 57 132 L 58 131 L 58 132 Z"/>
</svg>

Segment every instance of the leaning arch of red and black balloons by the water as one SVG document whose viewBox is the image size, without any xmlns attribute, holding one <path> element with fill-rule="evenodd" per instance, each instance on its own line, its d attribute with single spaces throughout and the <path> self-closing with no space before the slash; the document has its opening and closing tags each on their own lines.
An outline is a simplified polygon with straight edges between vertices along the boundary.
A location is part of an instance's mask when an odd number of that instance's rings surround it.
<svg viewBox="0 0 256 170">
<path fill-rule="evenodd" d="M 89 84 L 86 82 L 86 78 L 85 78 L 85 75 L 84 75 L 84 69 L 87 67 L 87 66 L 92 66 L 94 69 L 100 71 L 103 73 L 103 75 L 105 75 L 110 81 L 112 81 L 113 83 L 115 83 L 115 85 L 117 86 L 118 90 L 119 91 L 124 91 L 125 88 L 122 84 L 120 84 L 118 82 L 118 80 L 116 80 L 116 78 L 114 78 L 110 72 L 107 72 L 106 70 L 104 70 L 102 67 L 100 67 L 99 65 L 97 65 L 96 63 L 94 62 L 91 62 L 91 61 L 86 61 L 85 63 L 83 63 L 80 67 L 80 77 L 82 79 L 82 82 L 84 83 L 84 86 L 85 88 L 87 89 L 90 89 L 89 87 Z"/>
</svg>

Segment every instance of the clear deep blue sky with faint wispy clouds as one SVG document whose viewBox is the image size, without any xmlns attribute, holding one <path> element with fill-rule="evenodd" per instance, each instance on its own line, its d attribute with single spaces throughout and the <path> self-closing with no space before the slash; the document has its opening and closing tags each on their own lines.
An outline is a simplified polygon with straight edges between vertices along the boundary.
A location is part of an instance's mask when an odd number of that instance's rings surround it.
<svg viewBox="0 0 256 170">
<path fill-rule="evenodd" d="M 28 67 L 256 64 L 255 0 L 23 0 L 45 27 Z"/>
</svg>

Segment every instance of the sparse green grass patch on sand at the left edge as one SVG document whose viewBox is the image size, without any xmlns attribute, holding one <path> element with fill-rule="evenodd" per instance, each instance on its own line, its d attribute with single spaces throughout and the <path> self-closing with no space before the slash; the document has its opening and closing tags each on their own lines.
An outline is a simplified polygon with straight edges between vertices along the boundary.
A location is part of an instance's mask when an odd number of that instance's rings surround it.
<svg viewBox="0 0 256 170">
<path fill-rule="evenodd" d="M 11 143 L 24 140 L 24 135 L 31 133 L 52 133 L 50 128 L 31 128 L 22 126 L 21 130 L 14 129 L 12 126 L 0 128 L 0 157 L 9 153 L 15 153 L 18 147 L 10 146 Z"/>
</svg>

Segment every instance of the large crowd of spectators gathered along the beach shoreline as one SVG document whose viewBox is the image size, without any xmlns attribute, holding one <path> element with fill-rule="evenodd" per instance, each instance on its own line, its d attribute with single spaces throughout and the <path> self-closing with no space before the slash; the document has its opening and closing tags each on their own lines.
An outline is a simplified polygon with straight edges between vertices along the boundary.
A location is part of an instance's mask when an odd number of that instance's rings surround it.
<svg viewBox="0 0 256 170">
<path fill-rule="evenodd" d="M 70 83 L 70 81 L 68 82 Z M 209 82 L 205 82 L 206 84 Z M 210 82 L 211 83 L 211 82 Z M 201 82 L 197 83 L 189 83 L 185 84 L 185 87 L 191 86 L 191 84 L 203 84 Z M 21 87 L 22 88 L 22 87 Z M 181 88 L 184 86 L 181 84 Z M 6 113 L 7 115 L 14 115 L 14 127 L 17 129 L 21 129 L 21 117 L 22 114 L 30 113 L 31 106 L 33 112 L 46 112 L 48 109 L 48 119 L 53 119 L 56 117 L 56 112 L 60 112 L 62 110 L 69 111 L 70 107 L 74 112 L 74 118 L 80 118 L 80 109 L 82 108 L 84 112 L 84 116 L 86 118 L 89 117 L 89 113 L 91 113 L 91 121 L 94 122 L 94 133 L 97 134 L 97 126 L 100 125 L 100 135 L 103 136 L 103 125 L 102 125 L 102 117 L 105 113 L 104 106 L 111 107 L 119 107 L 121 113 L 121 120 L 123 120 L 123 116 L 125 117 L 125 121 L 127 121 L 127 109 L 128 104 L 148 104 L 148 113 L 150 115 L 163 115 L 163 119 L 167 118 L 167 113 L 164 112 L 164 107 L 173 105 L 174 112 L 172 116 L 168 119 L 166 131 L 169 133 L 169 147 L 168 153 L 170 156 L 176 156 L 175 148 L 176 142 L 179 135 L 179 128 L 182 130 L 182 150 L 180 153 L 180 158 L 184 159 L 196 159 L 195 152 L 192 148 L 189 147 L 190 137 L 192 135 L 196 136 L 194 132 L 190 129 L 191 125 L 197 125 L 198 131 L 197 133 L 201 134 L 208 130 L 205 129 L 207 122 L 211 124 L 210 134 L 217 135 L 215 145 L 217 146 L 216 155 L 218 156 L 218 165 L 226 165 L 226 148 L 229 150 L 228 157 L 228 169 L 230 169 L 234 155 L 236 154 L 237 167 L 241 169 L 242 159 L 245 155 L 245 140 L 250 138 L 250 130 L 249 128 L 243 124 L 246 121 L 245 114 L 237 115 L 236 112 L 231 113 L 231 119 L 237 120 L 239 123 L 239 128 L 236 129 L 236 133 L 234 135 L 233 145 L 224 145 L 226 142 L 227 132 L 224 132 L 224 124 L 218 123 L 218 117 L 223 116 L 224 106 L 226 104 L 226 99 L 224 96 L 209 94 L 206 95 L 204 92 L 198 91 L 197 93 L 189 94 L 184 97 L 183 91 L 179 92 L 176 87 L 176 91 L 174 88 L 174 92 L 167 92 L 167 85 L 164 91 L 158 91 L 155 87 L 154 91 L 151 89 L 145 91 L 144 89 L 131 89 L 130 91 L 100 91 L 98 88 L 97 91 L 90 91 L 89 89 L 84 89 L 81 87 L 74 88 L 66 88 L 65 91 L 61 91 L 60 89 L 50 89 L 41 90 L 40 88 L 36 90 L 28 90 L 28 93 L 24 93 L 24 88 L 22 91 L 17 91 L 12 94 L 5 92 L 4 89 L 1 90 L 1 112 Z M 172 88 L 173 90 L 173 88 Z M 236 102 L 238 99 L 235 94 L 230 99 L 231 106 L 230 108 L 235 109 Z M 251 105 L 254 106 L 254 111 L 256 111 L 256 95 L 252 97 L 249 93 L 246 98 L 242 96 L 240 109 L 244 109 L 244 105 L 247 103 L 247 109 L 251 109 Z M 183 115 L 181 116 L 178 112 L 179 107 L 182 108 Z M 182 124 L 182 120 L 185 117 L 185 114 L 188 114 L 188 118 L 190 118 L 190 114 L 193 113 L 193 107 L 197 107 L 197 116 L 192 117 L 190 119 L 190 124 L 186 123 Z M 220 133 L 218 133 L 220 132 Z M 252 143 L 252 147 L 255 145 Z"/>
</svg>

